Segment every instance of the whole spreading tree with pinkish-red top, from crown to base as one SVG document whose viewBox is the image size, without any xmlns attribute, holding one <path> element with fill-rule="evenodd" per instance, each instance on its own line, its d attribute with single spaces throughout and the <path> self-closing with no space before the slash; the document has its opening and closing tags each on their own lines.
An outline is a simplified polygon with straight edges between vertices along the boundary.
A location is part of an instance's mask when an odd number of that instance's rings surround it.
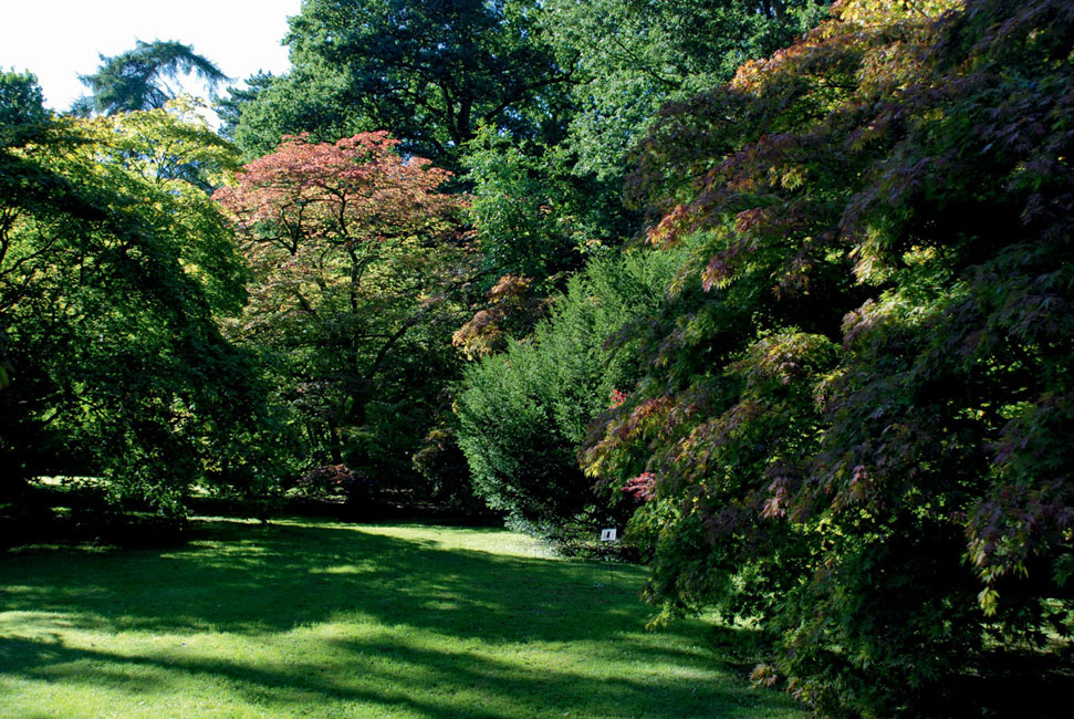
<svg viewBox="0 0 1074 719">
<path fill-rule="evenodd" d="M 415 425 L 428 421 L 421 407 L 450 355 L 465 204 L 438 189 L 449 173 L 398 144 L 386 133 L 286 137 L 216 194 L 253 272 L 233 333 L 274 358 L 304 469 L 388 461 L 409 472 Z"/>
</svg>

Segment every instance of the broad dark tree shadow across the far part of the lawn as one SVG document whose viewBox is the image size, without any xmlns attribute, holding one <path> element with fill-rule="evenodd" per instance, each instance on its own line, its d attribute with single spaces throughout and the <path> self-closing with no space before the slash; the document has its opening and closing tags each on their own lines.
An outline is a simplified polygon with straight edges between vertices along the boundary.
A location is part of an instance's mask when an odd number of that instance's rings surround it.
<svg viewBox="0 0 1074 719">
<path fill-rule="evenodd" d="M 213 532 L 212 530 L 219 530 Z M 285 631 L 357 613 L 490 640 L 577 640 L 640 628 L 636 567 L 440 549 L 345 527 L 210 523 L 171 551 L 22 552 L 4 560 L 7 612 L 65 626 L 181 634 Z"/>
</svg>

